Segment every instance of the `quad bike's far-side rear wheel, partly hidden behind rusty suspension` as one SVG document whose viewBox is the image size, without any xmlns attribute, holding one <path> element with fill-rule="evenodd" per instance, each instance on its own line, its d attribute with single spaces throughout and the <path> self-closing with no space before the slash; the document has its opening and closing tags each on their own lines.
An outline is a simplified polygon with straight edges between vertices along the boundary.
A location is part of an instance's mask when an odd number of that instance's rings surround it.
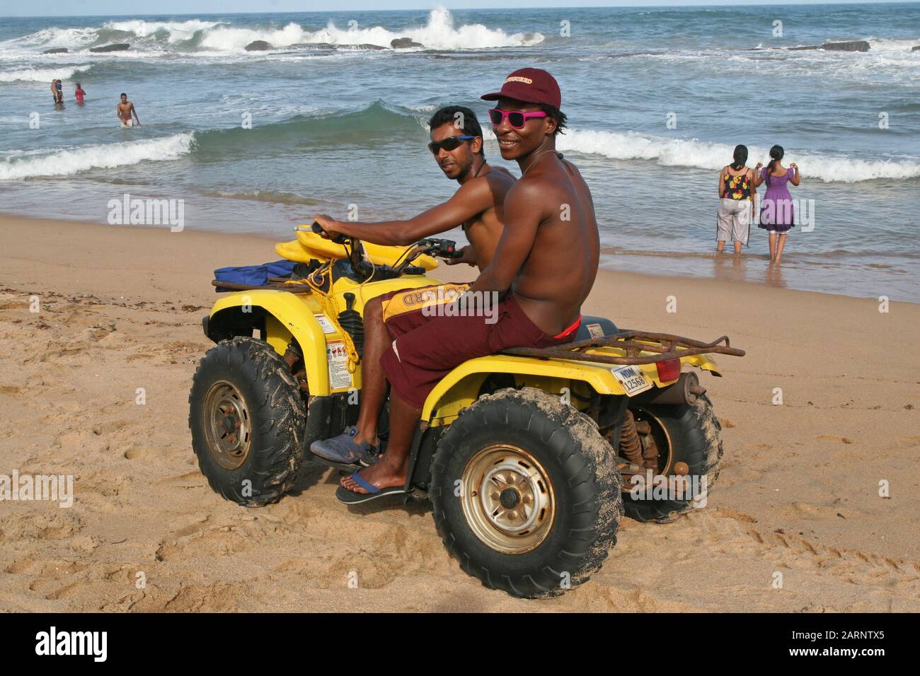
<svg viewBox="0 0 920 676">
<path fill-rule="evenodd" d="M 693 510 L 707 496 L 719 477 L 722 459 L 721 425 L 712 410 L 707 395 L 700 395 L 694 404 L 682 406 L 630 405 L 637 424 L 647 422 L 650 431 L 642 439 L 643 446 L 656 443 L 659 451 L 657 471 L 653 474 L 674 476 L 675 465 L 685 464 L 686 477 L 702 492 L 690 499 L 636 499 L 630 495 L 632 485 L 624 487 L 623 505 L 627 517 L 637 521 L 667 523 Z M 693 484 L 691 483 L 691 486 Z"/>
</svg>

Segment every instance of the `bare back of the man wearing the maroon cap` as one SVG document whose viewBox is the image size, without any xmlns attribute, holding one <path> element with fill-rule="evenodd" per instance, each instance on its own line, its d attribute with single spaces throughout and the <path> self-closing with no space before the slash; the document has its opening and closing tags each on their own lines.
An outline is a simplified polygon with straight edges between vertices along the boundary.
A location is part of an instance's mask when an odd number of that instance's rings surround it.
<svg viewBox="0 0 920 676">
<path fill-rule="evenodd" d="M 526 186 L 537 201 L 530 208 L 543 214 L 512 292 L 536 326 L 553 336 L 578 317 L 591 292 L 600 236 L 579 170 L 558 156 L 541 160 L 512 189 Z"/>
</svg>

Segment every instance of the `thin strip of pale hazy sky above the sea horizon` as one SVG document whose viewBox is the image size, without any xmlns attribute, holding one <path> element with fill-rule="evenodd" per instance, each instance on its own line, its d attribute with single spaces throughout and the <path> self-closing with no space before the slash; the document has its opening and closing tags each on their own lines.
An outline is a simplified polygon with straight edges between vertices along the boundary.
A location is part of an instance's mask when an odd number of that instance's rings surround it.
<svg viewBox="0 0 920 676">
<path fill-rule="evenodd" d="M 693 6 L 814 4 L 825 0 L 0 0 L 0 17 L 84 15 L 235 14 L 237 12 L 341 12 L 362 9 L 481 9 L 490 7 Z M 882 2 L 882 0 L 863 0 Z M 886 0 L 887 1 L 887 0 Z"/>
</svg>

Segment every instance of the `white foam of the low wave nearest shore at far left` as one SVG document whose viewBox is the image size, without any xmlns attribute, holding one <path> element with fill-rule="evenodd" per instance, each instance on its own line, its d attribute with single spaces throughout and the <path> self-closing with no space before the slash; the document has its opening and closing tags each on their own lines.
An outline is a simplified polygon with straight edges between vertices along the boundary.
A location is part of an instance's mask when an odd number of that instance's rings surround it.
<svg viewBox="0 0 920 676">
<path fill-rule="evenodd" d="M 175 160 L 188 155 L 193 145 L 193 135 L 185 132 L 162 139 L 84 145 L 43 155 L 30 153 L 0 161 L 0 180 L 71 176 L 96 168 Z"/>
</svg>

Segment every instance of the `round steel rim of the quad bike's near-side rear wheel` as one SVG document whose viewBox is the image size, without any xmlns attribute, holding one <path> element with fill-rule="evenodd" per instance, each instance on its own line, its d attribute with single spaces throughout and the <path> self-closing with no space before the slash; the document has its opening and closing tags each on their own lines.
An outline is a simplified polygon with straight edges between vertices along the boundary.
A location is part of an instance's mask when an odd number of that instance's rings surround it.
<svg viewBox="0 0 920 676">
<path fill-rule="evenodd" d="M 524 554 L 552 530 L 556 497 L 546 470 L 518 446 L 492 444 L 466 464 L 464 516 L 477 538 L 503 554 Z"/>
</svg>

